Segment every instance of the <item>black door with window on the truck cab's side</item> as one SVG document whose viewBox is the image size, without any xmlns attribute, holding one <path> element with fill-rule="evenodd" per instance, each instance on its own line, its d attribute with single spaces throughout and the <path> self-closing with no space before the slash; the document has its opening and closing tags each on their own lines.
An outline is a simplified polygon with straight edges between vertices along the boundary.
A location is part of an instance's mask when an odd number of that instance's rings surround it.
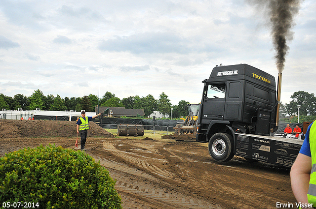
<svg viewBox="0 0 316 209">
<path fill-rule="evenodd" d="M 225 110 L 226 83 L 209 83 L 203 96 L 202 119 L 222 120 Z"/>
</svg>

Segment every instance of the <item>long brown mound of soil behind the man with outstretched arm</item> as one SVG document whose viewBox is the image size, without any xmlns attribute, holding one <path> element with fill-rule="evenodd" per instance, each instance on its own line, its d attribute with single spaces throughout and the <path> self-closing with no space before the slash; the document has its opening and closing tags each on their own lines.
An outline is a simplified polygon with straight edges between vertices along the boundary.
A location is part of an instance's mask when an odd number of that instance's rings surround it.
<svg viewBox="0 0 316 209">
<path fill-rule="evenodd" d="M 0 119 L 0 138 L 76 137 L 75 121 Z M 80 137 L 80 136 L 79 136 Z M 95 122 L 89 122 L 88 137 L 114 137 Z"/>
</svg>

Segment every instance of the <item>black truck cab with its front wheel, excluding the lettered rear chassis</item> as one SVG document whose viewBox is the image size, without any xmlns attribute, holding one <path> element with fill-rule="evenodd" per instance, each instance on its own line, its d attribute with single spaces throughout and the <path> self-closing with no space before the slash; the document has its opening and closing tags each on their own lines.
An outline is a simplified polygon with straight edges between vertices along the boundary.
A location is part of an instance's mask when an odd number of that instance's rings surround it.
<svg viewBox="0 0 316 209">
<path fill-rule="evenodd" d="M 224 136 L 224 141 L 217 140 L 210 148 L 215 158 L 222 158 L 221 152 L 228 151 L 223 150 L 227 143 L 232 152 L 228 158 L 234 156 L 235 133 L 270 136 L 276 126 L 278 103 L 274 76 L 248 64 L 237 64 L 216 66 L 202 82 L 196 141 L 214 143 L 218 136 Z M 229 142 L 225 144 L 225 140 Z"/>
</svg>

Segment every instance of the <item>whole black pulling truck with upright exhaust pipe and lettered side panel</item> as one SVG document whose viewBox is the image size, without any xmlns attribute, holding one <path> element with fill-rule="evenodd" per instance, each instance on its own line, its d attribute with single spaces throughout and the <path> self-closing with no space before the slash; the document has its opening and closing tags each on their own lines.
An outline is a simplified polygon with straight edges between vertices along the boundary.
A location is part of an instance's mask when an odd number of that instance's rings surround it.
<svg viewBox="0 0 316 209">
<path fill-rule="evenodd" d="M 273 137 L 278 127 L 274 76 L 248 64 L 216 66 L 204 89 L 197 119 L 197 142 L 208 144 L 218 162 L 234 155 L 290 167 L 303 140 Z"/>
</svg>

